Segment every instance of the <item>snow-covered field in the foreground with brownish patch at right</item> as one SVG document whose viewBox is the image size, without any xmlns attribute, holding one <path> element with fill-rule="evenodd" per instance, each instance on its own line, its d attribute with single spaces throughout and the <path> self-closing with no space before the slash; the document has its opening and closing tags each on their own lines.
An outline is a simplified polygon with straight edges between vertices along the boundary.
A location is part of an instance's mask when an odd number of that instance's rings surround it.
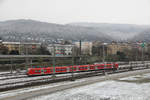
<svg viewBox="0 0 150 100">
<path fill-rule="evenodd" d="M 99 82 L 28 100 L 149 100 L 150 74 Z"/>
</svg>

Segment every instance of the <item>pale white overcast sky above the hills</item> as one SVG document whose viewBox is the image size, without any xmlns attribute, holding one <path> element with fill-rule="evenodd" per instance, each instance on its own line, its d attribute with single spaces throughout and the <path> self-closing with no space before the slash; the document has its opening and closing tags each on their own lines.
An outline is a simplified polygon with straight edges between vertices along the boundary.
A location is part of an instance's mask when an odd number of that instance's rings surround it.
<svg viewBox="0 0 150 100">
<path fill-rule="evenodd" d="M 150 25 L 150 0 L 0 0 L 0 21 L 34 19 L 50 23 Z"/>
</svg>

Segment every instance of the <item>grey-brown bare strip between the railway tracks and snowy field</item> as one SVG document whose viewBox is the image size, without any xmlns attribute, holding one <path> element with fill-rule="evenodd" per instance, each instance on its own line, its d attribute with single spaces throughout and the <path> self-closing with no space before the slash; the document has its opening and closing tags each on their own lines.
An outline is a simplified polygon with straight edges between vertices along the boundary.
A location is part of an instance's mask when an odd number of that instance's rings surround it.
<svg viewBox="0 0 150 100">
<path fill-rule="evenodd" d="M 29 92 L 24 92 L 20 94 L 16 94 L 13 96 L 8 96 L 2 98 L 2 100 L 22 100 L 22 99 L 27 99 L 27 98 L 32 98 L 36 97 L 39 95 L 45 95 L 45 94 L 50 94 L 50 93 L 55 93 L 57 91 L 62 91 L 66 89 L 71 89 L 75 87 L 80 87 L 80 86 L 85 86 L 105 80 L 114 80 L 114 79 L 119 79 L 123 77 L 128 77 L 128 76 L 135 76 L 138 74 L 144 74 L 144 73 L 149 73 L 150 69 L 145 69 L 145 70 L 138 70 L 138 71 L 132 71 L 132 72 L 124 72 L 124 73 L 119 73 L 119 74 L 113 74 L 113 75 L 106 75 L 103 77 L 97 76 L 97 77 L 92 77 L 92 78 L 86 78 L 86 79 L 81 79 L 81 81 L 77 80 L 75 82 L 66 82 L 66 84 L 60 84 L 57 86 L 53 87 L 48 87 L 48 88 L 40 88 L 39 90 L 36 91 L 29 91 Z M 1 100 L 1 99 L 0 99 Z"/>
</svg>

